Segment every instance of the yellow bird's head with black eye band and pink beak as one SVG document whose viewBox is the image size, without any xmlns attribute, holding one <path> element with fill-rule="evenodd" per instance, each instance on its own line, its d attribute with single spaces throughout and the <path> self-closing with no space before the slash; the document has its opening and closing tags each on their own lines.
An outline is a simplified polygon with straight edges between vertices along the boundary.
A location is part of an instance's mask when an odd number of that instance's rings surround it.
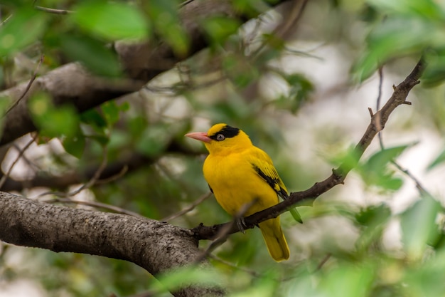
<svg viewBox="0 0 445 297">
<path fill-rule="evenodd" d="M 228 155 L 252 146 L 252 142 L 245 132 L 224 123 L 213 125 L 208 132 L 191 132 L 186 136 L 204 142 L 208 152 L 212 155 Z"/>
</svg>

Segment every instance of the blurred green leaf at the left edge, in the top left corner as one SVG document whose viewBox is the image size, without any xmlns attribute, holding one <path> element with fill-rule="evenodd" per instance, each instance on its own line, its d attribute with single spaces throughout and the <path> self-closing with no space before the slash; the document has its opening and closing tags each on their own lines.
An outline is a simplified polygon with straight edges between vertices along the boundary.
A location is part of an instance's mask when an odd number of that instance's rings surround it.
<svg viewBox="0 0 445 297">
<path fill-rule="evenodd" d="M 1 24 L 0 56 L 9 56 L 31 45 L 40 38 L 46 28 L 46 16 L 28 7 L 13 12 Z"/>
</svg>

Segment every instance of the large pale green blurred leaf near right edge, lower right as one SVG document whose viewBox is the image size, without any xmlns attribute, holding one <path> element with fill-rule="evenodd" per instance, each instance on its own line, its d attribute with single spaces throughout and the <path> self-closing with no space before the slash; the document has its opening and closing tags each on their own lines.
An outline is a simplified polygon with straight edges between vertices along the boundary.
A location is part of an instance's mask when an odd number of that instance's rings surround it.
<svg viewBox="0 0 445 297">
<path fill-rule="evenodd" d="M 427 196 L 409 207 L 400 216 L 402 243 L 407 254 L 419 259 L 427 247 L 427 241 L 437 234 L 436 217 L 441 210 L 439 202 Z"/>
</svg>

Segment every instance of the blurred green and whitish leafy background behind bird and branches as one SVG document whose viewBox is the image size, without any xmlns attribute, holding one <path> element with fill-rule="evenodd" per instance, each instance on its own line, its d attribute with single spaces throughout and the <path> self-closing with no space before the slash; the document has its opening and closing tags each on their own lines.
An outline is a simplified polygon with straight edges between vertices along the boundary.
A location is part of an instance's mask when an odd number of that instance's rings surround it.
<svg viewBox="0 0 445 297">
<path fill-rule="evenodd" d="M 161 40 L 178 56 L 191 44 L 178 24 L 178 1 L 2 2 L 2 89 L 70 61 L 96 75 L 122 78 L 112 47 L 117 40 Z M 233 5 L 266 12 L 271 4 L 237 0 Z M 75 13 L 51 14 L 45 7 Z M 208 50 L 140 92 L 86 113 L 78 115 L 70 105 L 55 107 L 48 95 L 36 94 L 29 108 L 40 132 L 26 159 L 11 171 L 14 179 L 62 176 L 135 155 L 143 162 L 82 191 L 73 185 L 20 194 L 57 203 L 60 193 L 54 192 L 74 191 L 76 200 L 165 219 L 208 193 L 201 173 L 205 150 L 183 135 L 218 122 L 242 127 L 272 156 L 289 190 L 306 189 L 350 157 L 350 147 L 368 125 L 368 107 L 376 110 L 378 68 L 384 66 L 384 103 L 391 85 L 423 55 L 428 67 L 422 85 L 410 95 L 413 105 L 396 110 L 382 142 L 371 145 L 345 185 L 323 194 L 313 207 L 299 207 L 302 225 L 282 215 L 289 261 L 269 259 L 259 231 L 253 230 L 230 236 L 215 250 L 210 261 L 216 275 L 176 271 L 163 277 L 163 285 L 173 288 L 178 278 L 218 280 L 232 296 L 441 296 L 445 3 L 309 1 L 286 42 L 270 31 L 285 11 L 269 11 L 240 30 L 235 19 L 202 20 Z M 3 109 L 9 105 L 7 99 L 2 102 Z M 168 151 L 171 143 L 183 149 Z M 17 153 L 9 150 L 4 172 Z M 210 198 L 168 222 L 193 227 L 228 220 Z M 17 296 L 23 287 L 33 296 L 145 291 L 169 296 L 134 264 L 1 243 L 0 296 Z"/>
</svg>

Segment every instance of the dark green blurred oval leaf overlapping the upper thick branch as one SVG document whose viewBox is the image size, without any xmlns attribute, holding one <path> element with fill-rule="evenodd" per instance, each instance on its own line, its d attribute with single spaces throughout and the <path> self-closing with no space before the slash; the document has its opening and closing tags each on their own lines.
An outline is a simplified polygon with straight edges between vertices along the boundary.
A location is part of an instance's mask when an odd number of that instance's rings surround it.
<svg viewBox="0 0 445 297">
<path fill-rule="evenodd" d="M 108 77 L 121 74 L 119 61 L 111 49 L 87 36 L 60 36 L 60 47 L 74 61 L 83 63 L 92 73 Z"/>
</svg>

